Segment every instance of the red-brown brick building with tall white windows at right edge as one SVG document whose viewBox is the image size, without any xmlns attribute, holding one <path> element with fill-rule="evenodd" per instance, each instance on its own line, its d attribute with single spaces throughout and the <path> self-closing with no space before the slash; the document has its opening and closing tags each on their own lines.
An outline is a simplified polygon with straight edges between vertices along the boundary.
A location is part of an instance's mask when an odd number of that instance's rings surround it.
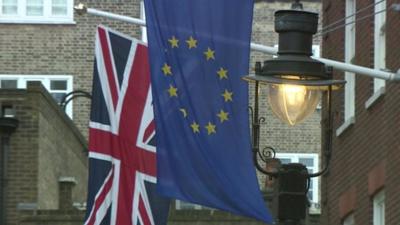
<svg viewBox="0 0 400 225">
<path fill-rule="evenodd" d="M 324 0 L 324 58 L 398 71 L 399 5 Z M 322 224 L 399 224 L 400 84 L 334 71 L 333 157 L 322 182 Z"/>
</svg>

